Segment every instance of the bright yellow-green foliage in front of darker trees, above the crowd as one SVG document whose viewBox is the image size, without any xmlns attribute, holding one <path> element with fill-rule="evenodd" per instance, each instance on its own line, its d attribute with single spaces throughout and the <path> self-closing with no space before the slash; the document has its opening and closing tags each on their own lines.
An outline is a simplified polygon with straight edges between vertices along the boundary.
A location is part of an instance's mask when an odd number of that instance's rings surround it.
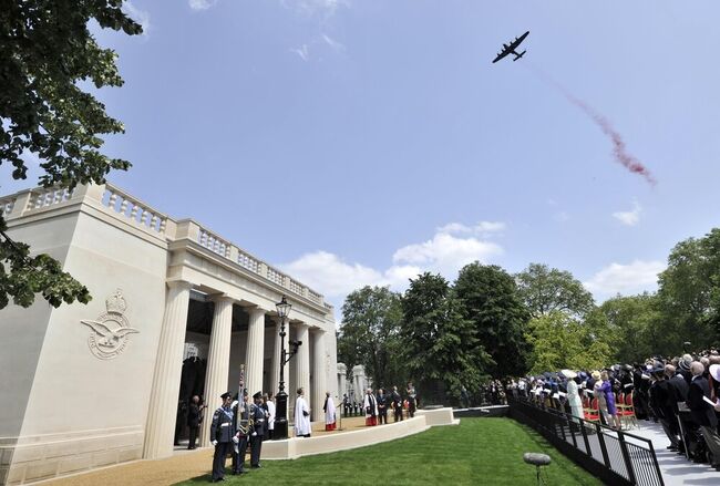
<svg viewBox="0 0 720 486">
<path fill-rule="evenodd" d="M 527 328 L 526 338 L 533 345 L 532 373 L 564 368 L 596 370 L 611 360 L 607 332 L 600 321 L 587 325 L 567 312 L 552 311 L 531 320 Z"/>
</svg>

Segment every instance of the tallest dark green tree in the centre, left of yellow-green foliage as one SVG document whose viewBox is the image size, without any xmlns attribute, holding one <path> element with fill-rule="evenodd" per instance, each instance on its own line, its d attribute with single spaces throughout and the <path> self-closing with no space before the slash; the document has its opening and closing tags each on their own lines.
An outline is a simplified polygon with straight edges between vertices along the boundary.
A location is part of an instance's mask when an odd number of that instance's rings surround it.
<svg viewBox="0 0 720 486">
<path fill-rule="evenodd" d="M 460 270 L 455 294 L 462 314 L 473 322 L 475 335 L 492 356 L 493 376 L 517 376 L 525 372 L 529 347 L 525 340 L 529 313 L 515 280 L 502 268 L 477 261 Z"/>
</svg>

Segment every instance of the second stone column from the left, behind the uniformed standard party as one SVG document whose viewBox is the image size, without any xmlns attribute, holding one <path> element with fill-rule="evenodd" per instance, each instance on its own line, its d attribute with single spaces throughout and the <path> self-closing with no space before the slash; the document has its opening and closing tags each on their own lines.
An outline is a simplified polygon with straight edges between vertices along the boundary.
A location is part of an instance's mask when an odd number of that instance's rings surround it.
<svg viewBox="0 0 720 486">
<path fill-rule="evenodd" d="M 222 404 L 220 395 L 227 392 L 227 375 L 230 366 L 230 339 L 233 333 L 233 299 L 218 297 L 213 314 L 210 345 L 207 351 L 207 372 L 205 374 L 205 420 L 200 427 L 200 446 L 210 442 L 210 424 L 213 413 Z"/>
</svg>

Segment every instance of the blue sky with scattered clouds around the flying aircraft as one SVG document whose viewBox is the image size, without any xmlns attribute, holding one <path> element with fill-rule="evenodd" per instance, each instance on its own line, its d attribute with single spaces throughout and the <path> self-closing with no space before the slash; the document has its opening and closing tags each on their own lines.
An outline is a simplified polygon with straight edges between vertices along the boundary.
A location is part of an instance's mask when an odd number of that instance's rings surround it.
<svg viewBox="0 0 720 486">
<path fill-rule="evenodd" d="M 340 306 L 479 259 L 656 288 L 720 218 L 714 1 L 134 0 L 110 180 Z M 491 61 L 529 30 L 525 58 Z M 525 64 L 523 64 L 525 63 Z M 593 106 L 657 179 L 613 157 Z M 10 170 L 0 167 L 2 180 Z M 32 180 L 4 184 L 2 193 Z"/>
</svg>

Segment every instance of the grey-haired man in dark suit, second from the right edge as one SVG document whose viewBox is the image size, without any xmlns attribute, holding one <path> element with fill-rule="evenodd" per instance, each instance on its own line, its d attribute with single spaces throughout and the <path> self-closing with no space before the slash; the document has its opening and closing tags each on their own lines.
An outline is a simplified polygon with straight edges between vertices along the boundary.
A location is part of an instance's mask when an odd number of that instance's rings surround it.
<svg viewBox="0 0 720 486">
<path fill-rule="evenodd" d="M 692 421 L 700 426 L 700 432 L 712 453 L 712 467 L 720 471 L 720 436 L 718 435 L 718 418 L 714 414 L 714 409 L 708 402 L 710 400 L 710 384 L 708 380 L 702 376 L 704 366 L 699 361 L 693 361 L 690 364 L 690 372 L 692 380 L 690 381 L 690 389 L 688 390 L 688 409 L 690 409 L 690 416 Z"/>
</svg>

